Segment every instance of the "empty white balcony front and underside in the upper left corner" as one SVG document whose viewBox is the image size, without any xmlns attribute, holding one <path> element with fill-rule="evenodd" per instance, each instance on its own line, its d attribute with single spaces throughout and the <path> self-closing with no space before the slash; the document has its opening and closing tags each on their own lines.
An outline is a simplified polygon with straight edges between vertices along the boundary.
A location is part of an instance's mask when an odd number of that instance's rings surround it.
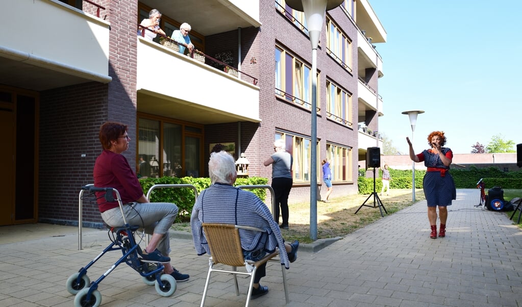
<svg viewBox="0 0 522 307">
<path fill-rule="evenodd" d="M 56 0 L 7 1 L 23 16 L 3 16 L 10 30 L 0 32 L 0 84 L 45 90 L 111 81 L 109 22 Z"/>
</svg>

